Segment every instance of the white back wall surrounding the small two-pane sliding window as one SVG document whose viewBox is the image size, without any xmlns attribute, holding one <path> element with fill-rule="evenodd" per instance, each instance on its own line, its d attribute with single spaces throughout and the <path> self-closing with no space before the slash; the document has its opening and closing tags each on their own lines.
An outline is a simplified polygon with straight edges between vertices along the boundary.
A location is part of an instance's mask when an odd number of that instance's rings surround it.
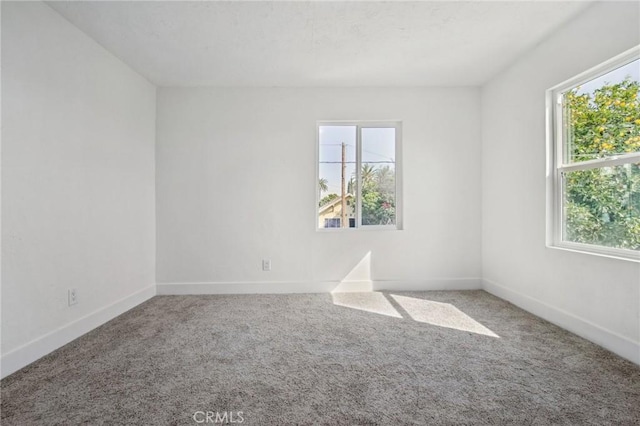
<svg viewBox="0 0 640 426">
<path fill-rule="evenodd" d="M 327 291 L 368 252 L 370 276 L 350 279 L 479 288 L 479 102 L 470 88 L 159 89 L 158 291 Z M 404 230 L 316 232 L 316 121 L 358 119 L 403 121 Z"/>
</svg>

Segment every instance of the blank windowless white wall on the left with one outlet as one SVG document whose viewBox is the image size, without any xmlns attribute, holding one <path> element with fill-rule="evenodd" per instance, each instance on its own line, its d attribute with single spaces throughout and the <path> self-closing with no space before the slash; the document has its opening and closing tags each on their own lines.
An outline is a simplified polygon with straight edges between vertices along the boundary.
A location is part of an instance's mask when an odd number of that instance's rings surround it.
<svg viewBox="0 0 640 426">
<path fill-rule="evenodd" d="M 45 4 L 2 2 L 2 114 L 6 375 L 155 294 L 155 87 Z"/>
</svg>

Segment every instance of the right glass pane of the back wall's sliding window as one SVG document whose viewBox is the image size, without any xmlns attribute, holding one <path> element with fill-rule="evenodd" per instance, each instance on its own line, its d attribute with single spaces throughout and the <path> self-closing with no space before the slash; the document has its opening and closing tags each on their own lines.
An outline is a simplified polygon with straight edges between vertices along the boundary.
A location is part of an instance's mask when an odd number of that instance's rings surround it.
<svg viewBox="0 0 640 426">
<path fill-rule="evenodd" d="M 396 224 L 396 129 L 362 129 L 362 225 Z"/>
</svg>

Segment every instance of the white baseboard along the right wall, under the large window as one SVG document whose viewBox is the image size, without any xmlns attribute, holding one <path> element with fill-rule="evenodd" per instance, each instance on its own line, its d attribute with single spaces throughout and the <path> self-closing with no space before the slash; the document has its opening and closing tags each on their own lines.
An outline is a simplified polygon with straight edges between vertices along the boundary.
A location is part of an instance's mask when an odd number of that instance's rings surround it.
<svg viewBox="0 0 640 426">
<path fill-rule="evenodd" d="M 491 293 L 494 296 L 511 302 L 527 312 L 531 312 L 540 318 L 543 318 L 640 365 L 640 342 L 634 342 L 627 337 L 600 327 L 597 324 L 577 317 L 533 297 L 506 288 L 493 281 L 486 279 L 483 280 L 482 287 L 486 292 Z"/>
</svg>

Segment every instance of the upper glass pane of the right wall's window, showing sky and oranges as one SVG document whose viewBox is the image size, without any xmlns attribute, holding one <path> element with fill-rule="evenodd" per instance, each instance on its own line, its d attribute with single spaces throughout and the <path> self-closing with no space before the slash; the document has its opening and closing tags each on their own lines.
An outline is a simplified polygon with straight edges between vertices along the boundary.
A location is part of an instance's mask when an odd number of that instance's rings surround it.
<svg viewBox="0 0 640 426">
<path fill-rule="evenodd" d="M 640 60 L 563 95 L 565 163 L 640 152 Z"/>
</svg>

